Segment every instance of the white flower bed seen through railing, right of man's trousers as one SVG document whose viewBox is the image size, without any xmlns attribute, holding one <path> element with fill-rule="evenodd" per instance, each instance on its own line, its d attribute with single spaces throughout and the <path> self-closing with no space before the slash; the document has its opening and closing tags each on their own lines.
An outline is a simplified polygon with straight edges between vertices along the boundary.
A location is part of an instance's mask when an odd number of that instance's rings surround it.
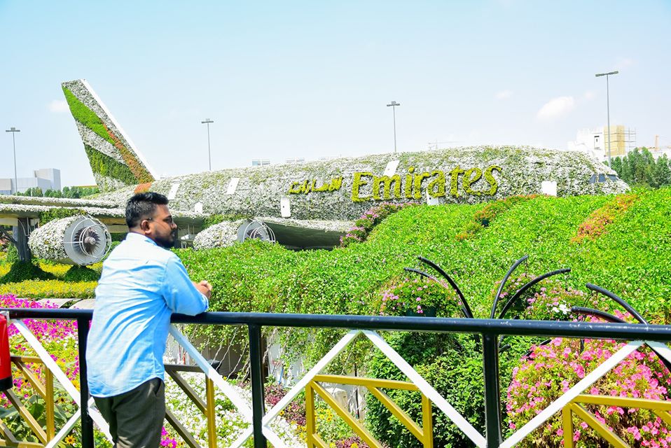
<svg viewBox="0 0 671 448">
<path fill-rule="evenodd" d="M 180 375 L 200 397 L 205 397 L 204 374 L 180 372 Z M 232 386 L 249 403 L 249 407 L 251 407 L 251 392 L 235 384 Z M 236 412 L 235 409 L 223 409 L 223 402 L 226 402 L 227 399 L 226 395 L 219 388 L 214 389 L 214 400 L 217 446 L 229 447 L 247 429 L 249 423 L 245 422 L 242 419 L 242 415 Z M 177 383 L 167 376 L 165 381 L 165 403 L 167 408 L 177 417 L 177 420 L 195 437 L 200 446 L 207 447 L 207 419 L 205 419 L 205 415 L 200 412 L 200 409 L 191 400 L 186 398 L 184 391 L 177 386 Z M 283 419 L 282 416 L 278 416 L 277 419 L 270 423 L 270 428 L 279 435 L 287 447 L 305 448 L 305 442 L 300 440 L 300 437 L 297 435 L 298 427 Z M 170 428 L 168 429 L 170 430 Z"/>
</svg>

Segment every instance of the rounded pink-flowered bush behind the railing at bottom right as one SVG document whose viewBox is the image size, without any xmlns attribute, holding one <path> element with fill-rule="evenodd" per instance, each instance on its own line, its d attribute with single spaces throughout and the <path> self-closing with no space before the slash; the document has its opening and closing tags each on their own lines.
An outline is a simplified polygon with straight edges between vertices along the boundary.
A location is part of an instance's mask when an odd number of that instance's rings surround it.
<svg viewBox="0 0 671 448">
<path fill-rule="evenodd" d="M 548 345 L 532 347 L 530 356 L 523 358 L 520 367 L 513 370 L 506 403 L 509 428 L 523 426 L 624 345 L 612 339 L 587 339 L 583 344 L 581 350 L 579 340 L 555 338 Z M 668 401 L 671 400 L 670 384 L 671 372 L 656 353 L 641 348 L 631 353 L 585 393 Z M 595 405 L 586 407 L 600 422 L 632 446 L 671 447 L 671 428 L 650 410 Z M 587 423 L 576 416 L 574 428 L 574 440 L 580 440 L 586 446 L 600 446 L 599 442 L 603 441 Z M 555 414 L 527 439 L 534 446 L 542 441 L 544 447 L 560 447 L 562 435 L 561 416 Z"/>
</svg>

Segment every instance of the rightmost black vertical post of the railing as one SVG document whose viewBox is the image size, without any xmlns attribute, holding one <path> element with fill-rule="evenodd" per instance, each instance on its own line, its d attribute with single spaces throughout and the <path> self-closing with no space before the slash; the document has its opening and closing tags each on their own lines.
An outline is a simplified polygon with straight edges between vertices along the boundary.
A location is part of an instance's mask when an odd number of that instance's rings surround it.
<svg viewBox="0 0 671 448">
<path fill-rule="evenodd" d="M 499 397 L 499 344 L 497 335 L 483 335 L 485 370 L 485 429 L 487 448 L 501 444 L 501 407 Z"/>
</svg>

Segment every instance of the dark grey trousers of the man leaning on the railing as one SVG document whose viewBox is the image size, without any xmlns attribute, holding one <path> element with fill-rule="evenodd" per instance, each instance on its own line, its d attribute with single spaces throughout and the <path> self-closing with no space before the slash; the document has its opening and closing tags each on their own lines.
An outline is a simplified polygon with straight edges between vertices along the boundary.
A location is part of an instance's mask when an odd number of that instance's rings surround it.
<svg viewBox="0 0 671 448">
<path fill-rule="evenodd" d="M 93 400 L 109 423 L 115 448 L 158 448 L 165 418 L 165 386 L 160 378 L 121 395 Z"/>
</svg>

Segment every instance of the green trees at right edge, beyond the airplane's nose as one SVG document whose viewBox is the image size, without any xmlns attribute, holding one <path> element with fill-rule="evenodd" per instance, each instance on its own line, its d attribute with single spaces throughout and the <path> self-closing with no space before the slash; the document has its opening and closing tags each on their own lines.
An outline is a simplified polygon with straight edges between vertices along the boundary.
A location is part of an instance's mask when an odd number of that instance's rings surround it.
<svg viewBox="0 0 671 448">
<path fill-rule="evenodd" d="M 636 148 L 622 158 L 614 158 L 611 168 L 630 186 L 659 188 L 671 185 L 671 165 L 666 154 L 655 160 L 648 148 Z"/>
</svg>

